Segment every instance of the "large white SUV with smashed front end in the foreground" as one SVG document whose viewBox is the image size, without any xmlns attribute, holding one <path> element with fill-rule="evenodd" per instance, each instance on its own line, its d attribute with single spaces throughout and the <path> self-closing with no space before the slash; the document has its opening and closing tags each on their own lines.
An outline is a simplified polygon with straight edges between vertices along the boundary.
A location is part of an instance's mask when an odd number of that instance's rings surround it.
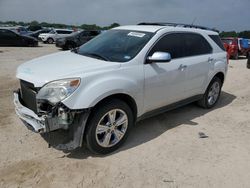
<svg viewBox="0 0 250 188">
<path fill-rule="evenodd" d="M 31 60 L 17 70 L 16 113 L 57 149 L 85 142 L 105 154 L 138 120 L 195 101 L 211 108 L 227 55 L 218 33 L 193 27 L 117 27 L 72 51 Z"/>
</svg>

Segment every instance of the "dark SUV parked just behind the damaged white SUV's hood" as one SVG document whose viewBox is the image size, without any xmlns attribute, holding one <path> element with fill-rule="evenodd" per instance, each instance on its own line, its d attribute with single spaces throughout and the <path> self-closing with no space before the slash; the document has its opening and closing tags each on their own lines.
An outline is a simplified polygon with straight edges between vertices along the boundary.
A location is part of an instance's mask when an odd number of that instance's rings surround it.
<svg viewBox="0 0 250 188">
<path fill-rule="evenodd" d="M 68 37 L 59 38 L 56 40 L 56 46 L 63 50 L 70 50 L 83 45 L 89 40 L 99 35 L 101 31 L 81 31 L 71 34 Z"/>
</svg>

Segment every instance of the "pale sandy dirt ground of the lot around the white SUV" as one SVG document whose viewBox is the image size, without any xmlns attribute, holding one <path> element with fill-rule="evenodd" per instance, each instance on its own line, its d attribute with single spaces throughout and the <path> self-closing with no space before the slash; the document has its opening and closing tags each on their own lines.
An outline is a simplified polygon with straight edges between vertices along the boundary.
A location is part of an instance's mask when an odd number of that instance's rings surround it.
<svg viewBox="0 0 250 188">
<path fill-rule="evenodd" d="M 250 187 L 250 70 L 232 60 L 217 107 L 194 104 L 139 122 L 115 153 L 48 148 L 15 115 L 15 71 L 59 51 L 0 47 L 0 187 Z M 207 135 L 200 138 L 199 133 Z"/>
</svg>

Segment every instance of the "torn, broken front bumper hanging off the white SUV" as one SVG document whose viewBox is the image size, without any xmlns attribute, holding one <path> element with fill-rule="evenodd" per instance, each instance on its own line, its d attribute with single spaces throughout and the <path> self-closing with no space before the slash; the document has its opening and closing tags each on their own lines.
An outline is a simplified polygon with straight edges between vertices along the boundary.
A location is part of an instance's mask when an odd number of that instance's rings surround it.
<svg viewBox="0 0 250 188">
<path fill-rule="evenodd" d="M 82 146 L 90 109 L 75 111 L 73 121 L 65 126 L 58 123 L 58 116 L 56 114 L 38 116 L 32 110 L 25 107 L 21 101 L 20 92 L 15 91 L 14 105 L 16 114 L 28 129 L 42 134 L 49 146 L 59 150 L 74 150 Z"/>
</svg>

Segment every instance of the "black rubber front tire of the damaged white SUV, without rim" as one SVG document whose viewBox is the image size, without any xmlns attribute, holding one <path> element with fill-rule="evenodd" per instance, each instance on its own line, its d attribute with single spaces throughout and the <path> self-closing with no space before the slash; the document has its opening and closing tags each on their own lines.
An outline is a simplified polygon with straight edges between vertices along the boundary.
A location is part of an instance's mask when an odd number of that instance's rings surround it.
<svg viewBox="0 0 250 188">
<path fill-rule="evenodd" d="M 123 137 L 120 139 L 120 141 L 118 141 L 118 143 L 116 143 L 115 145 L 112 145 L 110 147 L 103 147 L 98 143 L 99 137 L 97 136 L 97 133 L 96 133 L 97 126 L 98 126 L 99 122 L 102 119 L 104 119 L 104 117 L 106 117 L 105 115 L 114 109 L 122 110 L 123 112 L 125 112 L 125 114 L 127 115 L 126 116 L 127 117 L 127 123 L 126 123 L 127 128 L 126 128 L 126 131 L 125 131 Z M 128 137 L 128 133 L 129 133 L 131 127 L 133 126 L 133 124 L 134 124 L 134 116 L 133 116 L 132 110 L 125 102 L 118 100 L 118 99 L 113 99 L 113 100 L 110 100 L 108 102 L 103 103 L 102 105 L 97 106 L 96 109 L 93 111 L 93 113 L 90 117 L 90 120 L 88 121 L 88 126 L 87 126 L 87 130 L 86 130 L 85 141 L 86 141 L 88 149 L 94 153 L 97 153 L 97 154 L 108 154 L 108 153 L 115 151 L 124 143 L 124 141 Z M 105 126 L 107 126 L 107 124 Z M 114 130 L 113 130 L 113 132 L 114 132 Z M 107 134 L 112 135 L 112 131 L 103 133 L 104 139 L 106 137 L 105 135 L 107 135 Z M 115 140 L 114 134 L 113 134 L 113 140 Z M 108 143 L 112 143 L 112 136 L 110 136 Z"/>
</svg>

